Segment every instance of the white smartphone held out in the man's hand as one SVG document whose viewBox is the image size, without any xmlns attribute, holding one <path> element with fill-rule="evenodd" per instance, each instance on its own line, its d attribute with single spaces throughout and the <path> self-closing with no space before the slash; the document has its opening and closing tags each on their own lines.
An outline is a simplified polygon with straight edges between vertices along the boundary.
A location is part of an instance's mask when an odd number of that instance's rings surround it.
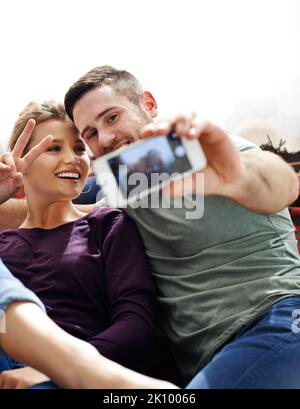
<svg viewBox="0 0 300 409">
<path fill-rule="evenodd" d="M 201 170 L 206 158 L 198 140 L 175 132 L 139 140 L 94 162 L 97 181 L 112 207 L 127 207 L 171 179 Z"/>
</svg>

